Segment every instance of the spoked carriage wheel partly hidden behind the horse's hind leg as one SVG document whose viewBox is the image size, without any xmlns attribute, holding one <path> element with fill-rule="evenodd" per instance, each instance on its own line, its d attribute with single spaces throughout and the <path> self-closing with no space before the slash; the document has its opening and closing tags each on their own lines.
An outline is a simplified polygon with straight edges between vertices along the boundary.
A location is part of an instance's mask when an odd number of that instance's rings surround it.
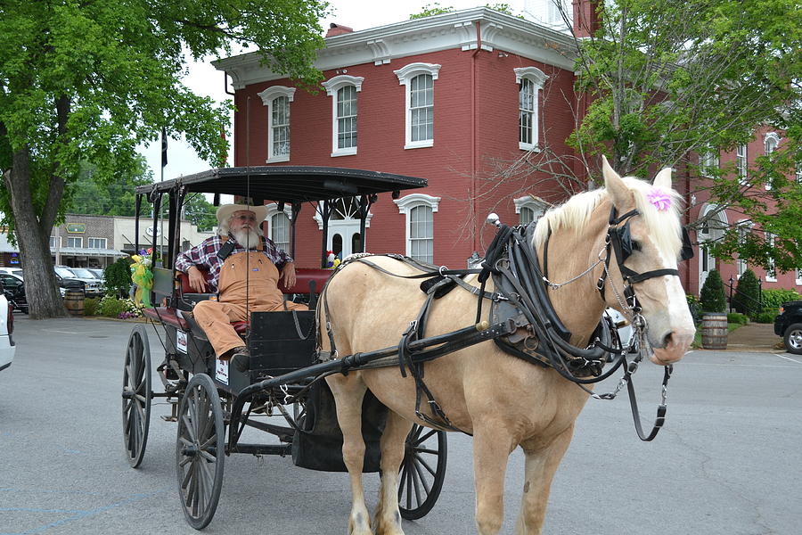
<svg viewBox="0 0 802 535">
<path fill-rule="evenodd" d="M 417 520 L 438 501 L 446 478 L 446 432 L 413 424 L 406 436 L 398 508 L 406 520 Z"/>
</svg>

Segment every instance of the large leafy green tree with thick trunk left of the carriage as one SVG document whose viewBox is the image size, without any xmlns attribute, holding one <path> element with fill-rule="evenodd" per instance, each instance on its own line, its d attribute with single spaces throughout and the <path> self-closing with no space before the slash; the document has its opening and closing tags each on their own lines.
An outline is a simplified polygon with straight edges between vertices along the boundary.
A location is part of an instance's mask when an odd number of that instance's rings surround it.
<svg viewBox="0 0 802 535">
<path fill-rule="evenodd" d="M 272 70 L 314 86 L 323 0 L 5 0 L 0 4 L 2 222 L 16 233 L 30 317 L 65 314 L 48 236 L 79 162 L 105 182 L 131 174 L 138 144 L 183 135 L 221 163 L 230 104 L 184 86 L 198 60 L 256 47 Z"/>
</svg>

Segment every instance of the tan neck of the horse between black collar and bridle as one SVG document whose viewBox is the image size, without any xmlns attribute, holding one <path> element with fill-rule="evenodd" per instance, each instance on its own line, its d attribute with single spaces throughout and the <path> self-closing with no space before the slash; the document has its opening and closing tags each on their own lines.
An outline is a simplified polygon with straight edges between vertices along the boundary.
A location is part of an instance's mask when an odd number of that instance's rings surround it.
<svg viewBox="0 0 802 535">
<path fill-rule="evenodd" d="M 598 210 L 597 210 L 598 211 Z M 603 231 L 606 221 L 600 221 L 593 213 L 591 222 L 581 234 L 573 229 L 560 229 L 549 239 L 548 277 L 552 283 L 561 284 L 585 272 L 599 259 L 599 251 L 604 246 Z M 591 239 L 589 239 L 591 238 Z M 538 247 L 543 261 L 543 244 Z M 557 316 L 571 333 L 572 342 L 586 342 L 604 310 L 604 301 L 596 288 L 601 276 L 599 264 L 589 273 L 559 288 L 549 287 L 549 298 Z"/>
</svg>

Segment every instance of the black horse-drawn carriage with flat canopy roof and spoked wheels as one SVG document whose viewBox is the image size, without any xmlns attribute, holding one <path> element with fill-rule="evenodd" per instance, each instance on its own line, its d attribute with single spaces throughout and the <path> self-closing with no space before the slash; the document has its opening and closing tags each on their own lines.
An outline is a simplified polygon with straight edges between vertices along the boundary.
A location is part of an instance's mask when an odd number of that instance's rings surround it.
<svg viewBox="0 0 802 535">
<path fill-rule="evenodd" d="M 154 358 L 145 325 L 130 335 L 124 367 L 122 415 L 125 448 L 133 467 L 143 461 L 151 419 L 151 400 L 164 398 L 171 407 L 162 416 L 177 422 L 176 470 L 179 494 L 188 523 L 205 527 L 217 509 L 225 457 L 233 453 L 291 457 L 295 465 L 314 470 L 345 471 L 341 457 L 342 435 L 334 400 L 322 378 L 337 373 L 336 364 L 318 363 L 315 354 L 315 300 L 331 269 L 325 262 L 327 226 L 334 203 L 353 199 L 365 219 L 380 193 L 397 198 L 401 190 L 423 187 L 421 178 L 356 169 L 315 167 L 249 167 L 212 169 L 136 189 L 136 229 L 139 236 L 143 201 L 151 204 L 153 228 L 164 227 L 166 248 L 162 261 L 152 267 L 154 306 L 144 310 L 164 348 Z M 306 300 L 310 310 L 253 312 L 250 322 L 235 325 L 250 362 L 234 366 L 215 358 L 206 334 L 192 314 L 195 303 L 215 299 L 193 293 L 176 271 L 181 242 L 180 214 L 190 195 L 232 194 L 258 205 L 276 202 L 291 208 L 291 254 L 295 250 L 295 222 L 305 206 L 319 210 L 323 219 L 322 268 L 298 268 L 298 282 L 282 288 L 288 299 Z M 389 196 L 389 195 L 388 195 Z M 165 205 L 162 207 L 162 205 Z M 165 210 L 162 210 L 164 208 Z M 160 213 L 166 212 L 164 222 Z M 159 250 L 159 233 L 149 245 Z M 362 240 L 364 243 L 364 238 Z M 139 243 L 135 243 L 138 251 Z M 160 331 L 158 327 L 163 331 Z M 241 363 L 240 363 L 241 364 Z M 154 366 L 155 365 L 155 366 Z M 152 367 L 155 367 L 153 374 Z M 158 377 L 163 391 L 154 391 Z M 379 438 L 386 408 L 366 396 L 363 433 L 367 446 L 364 471 L 379 468 Z M 281 425 L 274 418 L 282 416 Z M 244 443 L 245 427 L 274 435 L 271 443 Z M 399 502 L 406 519 L 421 518 L 438 498 L 446 470 L 446 433 L 414 425 L 406 441 L 401 468 Z"/>
</svg>

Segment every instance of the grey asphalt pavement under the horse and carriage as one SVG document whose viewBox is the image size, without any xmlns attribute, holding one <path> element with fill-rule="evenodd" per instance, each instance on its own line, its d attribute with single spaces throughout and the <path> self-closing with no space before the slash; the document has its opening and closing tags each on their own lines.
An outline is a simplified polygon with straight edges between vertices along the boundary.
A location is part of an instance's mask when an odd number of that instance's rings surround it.
<svg viewBox="0 0 802 535">
<path fill-rule="evenodd" d="M 0 534 L 194 533 L 177 498 L 176 425 L 159 417 L 168 407 L 153 408 L 142 467 L 124 457 L 121 368 L 132 325 L 20 314 L 15 324 L 17 356 L 0 372 Z M 635 375 L 644 424 L 661 372 L 644 364 Z M 692 351 L 675 366 L 667 424 L 650 443 L 637 439 L 626 395 L 589 400 L 552 485 L 544 533 L 798 533 L 800 385 L 802 358 L 782 350 Z M 519 451 L 511 456 L 503 533 L 514 529 L 522 461 Z M 378 476 L 365 479 L 373 506 Z M 449 434 L 443 493 L 405 532 L 475 533 L 473 499 L 471 439 Z M 349 506 L 345 474 L 296 468 L 289 458 L 228 457 L 205 531 L 346 533 Z"/>
</svg>

